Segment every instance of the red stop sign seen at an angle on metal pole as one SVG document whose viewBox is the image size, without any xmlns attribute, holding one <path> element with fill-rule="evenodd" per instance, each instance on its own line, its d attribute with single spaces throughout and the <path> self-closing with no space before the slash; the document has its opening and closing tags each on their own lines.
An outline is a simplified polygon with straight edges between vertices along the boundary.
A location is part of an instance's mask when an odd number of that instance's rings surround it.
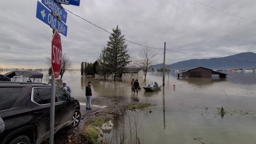
<svg viewBox="0 0 256 144">
<path fill-rule="evenodd" d="M 53 41 L 51 41 L 51 67 L 53 68 L 54 79 L 57 79 L 60 76 L 61 56 L 61 38 L 60 34 L 55 31 Z"/>
</svg>

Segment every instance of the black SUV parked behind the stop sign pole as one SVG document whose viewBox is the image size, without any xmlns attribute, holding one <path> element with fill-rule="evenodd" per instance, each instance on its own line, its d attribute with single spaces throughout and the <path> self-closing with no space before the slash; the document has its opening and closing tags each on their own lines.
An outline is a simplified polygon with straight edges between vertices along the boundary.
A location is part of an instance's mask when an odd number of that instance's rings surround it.
<svg viewBox="0 0 256 144">
<path fill-rule="evenodd" d="M 44 83 L 0 82 L 0 115 L 5 130 L 0 143 L 42 143 L 49 138 L 51 87 Z M 77 127 L 78 100 L 56 87 L 55 133 L 63 127 Z"/>
</svg>

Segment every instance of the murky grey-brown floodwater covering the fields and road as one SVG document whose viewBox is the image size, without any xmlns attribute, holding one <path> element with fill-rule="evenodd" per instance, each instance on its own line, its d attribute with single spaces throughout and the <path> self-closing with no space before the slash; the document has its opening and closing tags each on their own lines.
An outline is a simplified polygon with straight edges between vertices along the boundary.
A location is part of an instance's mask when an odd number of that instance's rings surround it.
<svg viewBox="0 0 256 144">
<path fill-rule="evenodd" d="M 122 97 L 156 104 L 149 108 L 152 113 L 133 112 L 143 143 L 256 143 L 256 73 L 224 73 L 228 74 L 226 79 L 178 79 L 176 74 L 166 74 L 160 91 L 141 89 L 138 94 L 131 92 L 130 80 L 94 80 L 81 77 L 80 71 L 67 71 L 63 81 L 81 103 L 85 103 L 85 87 L 91 81 L 92 98 Z M 139 80 L 142 87 L 154 81 L 162 85 L 161 73 L 149 73 L 147 78 L 146 82 Z M 43 82 L 49 82 L 48 76 Z M 224 117 L 217 110 L 222 106 L 228 111 Z M 118 123 L 114 122 L 113 131 L 118 130 Z"/>
</svg>

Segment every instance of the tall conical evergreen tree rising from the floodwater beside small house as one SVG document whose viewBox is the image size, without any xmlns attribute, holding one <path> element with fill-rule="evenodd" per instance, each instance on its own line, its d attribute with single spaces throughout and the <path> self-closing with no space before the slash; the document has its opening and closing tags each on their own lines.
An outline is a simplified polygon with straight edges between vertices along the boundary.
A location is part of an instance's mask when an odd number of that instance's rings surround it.
<svg viewBox="0 0 256 144">
<path fill-rule="evenodd" d="M 112 31 L 109 35 L 109 41 L 107 41 L 107 47 L 102 50 L 99 62 L 103 62 L 101 64 L 106 64 L 105 67 L 109 67 L 110 73 L 114 75 L 115 80 L 116 77 L 121 76 L 127 64 L 130 63 L 130 55 L 125 44 L 124 35 L 121 35 L 121 30 L 118 26 Z"/>
</svg>

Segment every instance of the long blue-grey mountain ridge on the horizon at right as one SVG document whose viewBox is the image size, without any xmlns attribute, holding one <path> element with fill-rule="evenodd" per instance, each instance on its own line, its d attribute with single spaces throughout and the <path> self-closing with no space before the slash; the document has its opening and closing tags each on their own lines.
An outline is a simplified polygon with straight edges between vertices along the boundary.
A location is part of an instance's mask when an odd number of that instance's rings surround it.
<svg viewBox="0 0 256 144">
<path fill-rule="evenodd" d="M 243 52 L 236 55 L 231 55 L 227 57 L 220 58 L 210 58 L 210 59 L 190 59 L 187 61 L 181 61 L 173 63 L 166 66 L 170 69 L 182 69 L 187 70 L 195 67 L 206 67 L 210 69 L 232 69 L 232 68 L 242 68 L 251 69 L 256 68 L 256 53 L 253 52 Z M 161 69 L 161 64 L 152 65 L 154 69 Z"/>
</svg>

